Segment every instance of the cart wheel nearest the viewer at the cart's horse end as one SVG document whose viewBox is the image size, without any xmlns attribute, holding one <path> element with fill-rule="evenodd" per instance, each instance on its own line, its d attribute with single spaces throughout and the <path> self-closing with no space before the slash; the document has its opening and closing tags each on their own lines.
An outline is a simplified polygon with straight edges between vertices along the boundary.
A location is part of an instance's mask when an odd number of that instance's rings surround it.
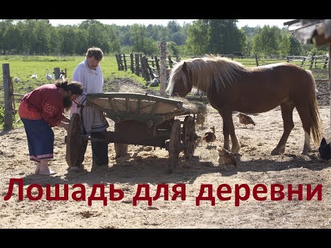
<svg viewBox="0 0 331 248">
<path fill-rule="evenodd" d="M 179 153 L 183 146 L 180 140 L 181 133 L 181 121 L 178 119 L 172 123 L 172 129 L 169 141 L 169 158 L 168 158 L 168 169 L 170 173 L 173 173 L 178 164 Z"/>
</svg>

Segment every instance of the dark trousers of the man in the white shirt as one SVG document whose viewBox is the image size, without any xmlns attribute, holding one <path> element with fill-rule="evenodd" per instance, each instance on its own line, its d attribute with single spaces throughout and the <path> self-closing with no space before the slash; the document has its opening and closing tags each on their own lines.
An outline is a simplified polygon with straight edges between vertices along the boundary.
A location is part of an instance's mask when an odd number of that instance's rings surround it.
<svg viewBox="0 0 331 248">
<path fill-rule="evenodd" d="M 105 137 L 106 131 L 103 132 L 92 132 L 91 138 Z M 92 165 L 108 165 L 108 142 L 107 141 L 91 141 L 92 146 Z M 83 141 L 76 166 L 80 166 L 84 161 L 84 155 L 86 148 L 88 147 L 88 141 Z"/>
</svg>

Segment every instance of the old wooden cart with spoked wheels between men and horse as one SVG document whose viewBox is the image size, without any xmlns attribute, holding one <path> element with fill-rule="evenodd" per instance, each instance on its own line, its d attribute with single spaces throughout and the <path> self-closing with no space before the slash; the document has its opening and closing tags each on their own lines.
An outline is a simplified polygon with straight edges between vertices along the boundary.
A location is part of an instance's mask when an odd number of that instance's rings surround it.
<svg viewBox="0 0 331 248">
<path fill-rule="evenodd" d="M 73 114 L 66 142 L 66 161 L 74 166 L 81 142 L 107 141 L 114 143 L 117 157 L 127 151 L 128 145 L 150 145 L 165 148 L 169 152 L 170 173 L 177 167 L 179 153 L 186 158 L 194 154 L 197 134 L 195 114 L 183 106 L 182 101 L 149 94 L 129 92 L 88 94 L 87 103 L 106 113 L 114 121 L 114 132 L 106 132 L 102 139 L 84 136 L 81 117 Z M 185 116 L 181 121 L 176 116 Z"/>
</svg>

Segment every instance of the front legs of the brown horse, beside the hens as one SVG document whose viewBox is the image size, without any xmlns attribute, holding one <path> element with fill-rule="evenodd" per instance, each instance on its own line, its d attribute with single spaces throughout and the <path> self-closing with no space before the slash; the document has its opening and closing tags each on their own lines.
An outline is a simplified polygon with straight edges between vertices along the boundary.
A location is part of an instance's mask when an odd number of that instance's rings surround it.
<svg viewBox="0 0 331 248">
<path fill-rule="evenodd" d="M 236 133 L 234 132 L 234 125 L 232 120 L 232 110 L 223 109 L 223 111 L 219 111 L 219 114 L 221 114 L 223 118 L 223 136 L 224 136 L 224 149 L 227 149 L 230 151 L 230 140 L 229 140 L 229 134 L 231 137 L 231 152 L 234 154 L 239 153 L 240 145 L 236 136 Z"/>
</svg>

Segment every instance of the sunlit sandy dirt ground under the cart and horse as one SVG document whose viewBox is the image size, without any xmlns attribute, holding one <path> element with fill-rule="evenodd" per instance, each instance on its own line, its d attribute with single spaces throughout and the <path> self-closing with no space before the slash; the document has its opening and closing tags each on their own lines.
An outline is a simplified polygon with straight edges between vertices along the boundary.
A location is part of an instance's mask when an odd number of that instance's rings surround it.
<svg viewBox="0 0 331 248">
<path fill-rule="evenodd" d="M 321 93 L 328 92 L 328 85 L 317 85 Z M 203 126 L 197 127 L 202 135 L 210 125 L 215 126 L 217 140 L 212 144 L 202 141 L 197 145 L 194 156 L 185 160 L 179 155 L 179 166 L 173 174 L 168 173 L 168 152 L 165 149 L 129 145 L 128 155 L 114 159 L 114 145 L 109 144 L 110 163 L 108 168 L 99 172 L 90 172 L 90 143 L 84 161 L 85 171 L 71 172 L 66 163 L 66 131 L 54 128 L 54 160 L 50 168 L 57 172 L 54 176 L 34 174 L 34 165 L 28 161 L 28 144 L 23 128 L 1 132 L 0 134 L 0 228 L 1 229 L 329 229 L 331 227 L 331 168 L 330 162 L 321 162 L 318 158 L 318 146 L 312 144 L 309 156 L 301 155 L 303 148 L 303 129 L 297 111 L 294 110 L 294 124 L 285 154 L 271 156 L 283 131 L 280 108 L 270 112 L 250 115 L 255 126 L 245 128 L 233 114 L 237 137 L 241 143 L 240 154 L 236 156 L 237 167 L 228 165 L 226 169 L 217 162 L 217 145 L 223 146 L 221 116 L 208 105 L 208 114 Z M 322 120 L 323 136 L 330 138 L 330 97 L 319 98 L 319 111 Z M 109 119 L 110 127 L 114 124 Z M 4 200 L 8 192 L 10 178 L 22 178 L 23 200 L 18 200 L 18 190 L 14 187 L 12 198 Z M 41 200 L 29 200 L 26 189 L 32 183 L 43 187 Z M 281 184 L 285 187 L 283 200 L 270 199 L 270 185 Z M 46 200 L 46 185 L 69 185 L 69 200 Z M 86 187 L 86 200 L 72 200 L 72 185 Z M 93 185 L 105 185 L 109 196 L 109 185 L 121 189 L 121 200 L 109 200 L 103 205 L 100 200 L 92 201 L 88 206 L 88 196 Z M 152 201 L 138 200 L 137 206 L 132 199 L 137 194 L 138 185 L 149 185 L 150 196 L 154 196 L 157 185 L 165 184 L 170 188 L 169 199 L 165 194 Z M 171 200 L 172 186 L 185 185 L 185 200 L 181 197 Z M 217 187 L 230 185 L 232 191 L 236 184 L 250 187 L 248 200 L 234 205 L 234 194 L 230 200 L 217 198 Z M 263 184 L 268 188 L 266 200 L 255 200 L 252 196 L 254 185 Z M 322 185 L 322 199 L 315 195 L 307 200 L 306 185 Z M 196 205 L 201 185 L 212 185 L 215 205 L 202 200 Z M 303 200 L 294 194 L 288 200 L 287 187 L 303 185 Z M 54 187 L 52 187 L 54 189 Z M 36 188 L 31 191 L 37 196 Z M 98 194 L 97 194 L 98 195 Z M 142 194 L 145 195 L 145 194 Z M 205 190 L 204 196 L 208 195 Z M 241 192 L 243 195 L 243 192 Z"/>
</svg>

